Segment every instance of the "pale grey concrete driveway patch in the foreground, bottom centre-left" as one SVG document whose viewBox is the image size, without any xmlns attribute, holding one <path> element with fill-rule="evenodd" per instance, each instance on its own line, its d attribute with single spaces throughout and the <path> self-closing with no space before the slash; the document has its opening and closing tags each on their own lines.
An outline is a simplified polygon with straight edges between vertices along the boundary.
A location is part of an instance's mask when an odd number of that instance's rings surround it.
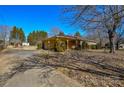
<svg viewBox="0 0 124 93">
<path fill-rule="evenodd" d="M 4 87 L 80 87 L 63 73 L 50 67 L 29 69 L 15 74 Z"/>
</svg>

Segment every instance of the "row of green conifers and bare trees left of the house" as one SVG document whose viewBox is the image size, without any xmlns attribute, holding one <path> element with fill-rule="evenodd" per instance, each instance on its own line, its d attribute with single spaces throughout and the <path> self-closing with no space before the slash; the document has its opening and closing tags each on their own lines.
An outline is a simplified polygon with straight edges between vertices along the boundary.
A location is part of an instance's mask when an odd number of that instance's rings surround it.
<svg viewBox="0 0 124 93">
<path fill-rule="evenodd" d="M 13 26 L 0 26 L 0 40 L 5 45 L 9 44 L 22 44 L 23 42 L 29 42 L 30 45 L 36 45 L 43 39 L 48 37 L 48 33 L 43 30 L 32 31 L 26 38 L 25 32 L 22 28 Z M 1 41 L 1 42 L 2 42 Z"/>
</svg>

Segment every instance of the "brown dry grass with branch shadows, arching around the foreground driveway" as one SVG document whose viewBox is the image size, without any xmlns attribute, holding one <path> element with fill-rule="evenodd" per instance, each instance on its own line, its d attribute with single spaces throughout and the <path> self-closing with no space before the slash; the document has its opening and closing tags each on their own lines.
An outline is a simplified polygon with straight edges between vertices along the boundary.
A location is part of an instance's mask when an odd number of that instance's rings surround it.
<svg viewBox="0 0 124 93">
<path fill-rule="evenodd" d="M 50 66 L 76 80 L 85 87 L 124 87 L 124 52 L 116 54 L 103 51 L 42 52 L 15 65 L 11 72 L 26 71 L 32 67 Z M 8 77 L 13 75 L 6 74 Z M 1 85 L 3 85 L 2 76 Z M 4 80 L 8 78 L 4 77 Z M 3 83 L 3 84 L 2 84 Z"/>
</svg>

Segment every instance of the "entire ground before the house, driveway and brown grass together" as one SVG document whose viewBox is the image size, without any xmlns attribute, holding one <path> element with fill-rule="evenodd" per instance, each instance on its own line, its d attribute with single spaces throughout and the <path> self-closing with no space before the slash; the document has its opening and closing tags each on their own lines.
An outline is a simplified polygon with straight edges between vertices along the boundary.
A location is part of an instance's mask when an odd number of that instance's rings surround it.
<svg viewBox="0 0 124 93">
<path fill-rule="evenodd" d="M 123 87 L 124 51 L 64 53 L 8 48 L 0 53 L 0 86 Z"/>
</svg>

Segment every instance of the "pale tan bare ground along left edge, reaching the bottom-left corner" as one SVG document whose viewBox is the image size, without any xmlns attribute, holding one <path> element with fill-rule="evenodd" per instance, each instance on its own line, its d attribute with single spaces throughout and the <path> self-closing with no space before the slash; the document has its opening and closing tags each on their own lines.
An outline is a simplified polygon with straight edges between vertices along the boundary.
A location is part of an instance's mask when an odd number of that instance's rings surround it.
<svg viewBox="0 0 124 93">
<path fill-rule="evenodd" d="M 5 84 L 5 82 L 11 78 L 14 74 L 12 69 L 23 62 L 22 60 L 37 54 L 38 51 L 36 47 L 23 47 L 23 48 L 13 48 L 9 46 L 0 52 L 0 86 Z"/>
</svg>

